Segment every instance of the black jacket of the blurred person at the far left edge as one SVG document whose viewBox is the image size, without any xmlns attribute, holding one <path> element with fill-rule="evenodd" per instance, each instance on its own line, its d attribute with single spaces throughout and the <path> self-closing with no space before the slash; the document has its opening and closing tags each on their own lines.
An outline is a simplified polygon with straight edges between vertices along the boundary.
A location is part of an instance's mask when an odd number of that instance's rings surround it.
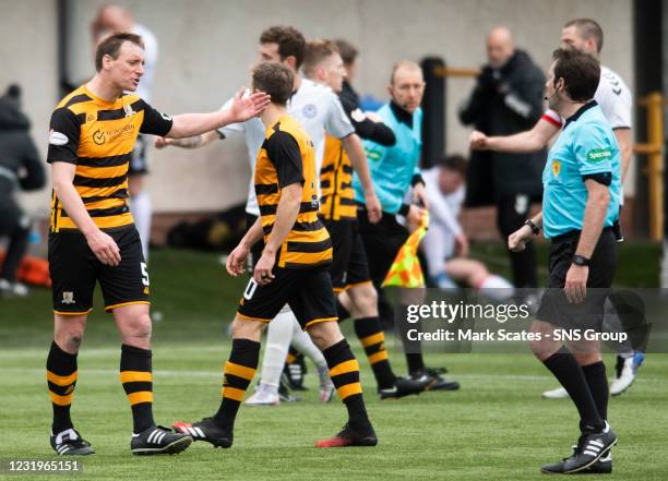
<svg viewBox="0 0 668 481">
<path fill-rule="evenodd" d="M 45 169 L 29 135 L 31 122 L 8 96 L 0 97 L 0 206 L 14 206 L 17 189 L 45 184 Z"/>
</svg>

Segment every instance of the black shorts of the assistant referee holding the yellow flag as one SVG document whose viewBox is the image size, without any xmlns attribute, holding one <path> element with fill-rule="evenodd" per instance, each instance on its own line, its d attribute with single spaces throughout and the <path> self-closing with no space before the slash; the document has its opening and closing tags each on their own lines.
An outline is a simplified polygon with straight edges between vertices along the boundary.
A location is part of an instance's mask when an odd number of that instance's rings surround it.
<svg viewBox="0 0 668 481">
<path fill-rule="evenodd" d="M 367 253 L 369 274 L 378 289 L 385 279 L 399 249 L 408 240 L 408 229 L 397 223 L 394 214 L 387 213 L 383 213 L 380 223 L 371 224 L 367 211 L 361 205 L 358 206 L 357 221 Z"/>
</svg>

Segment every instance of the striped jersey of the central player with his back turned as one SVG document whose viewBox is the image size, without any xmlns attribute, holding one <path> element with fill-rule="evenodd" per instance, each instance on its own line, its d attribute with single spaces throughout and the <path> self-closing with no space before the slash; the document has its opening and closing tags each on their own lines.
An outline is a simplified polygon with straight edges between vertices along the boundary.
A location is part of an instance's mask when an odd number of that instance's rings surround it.
<svg viewBox="0 0 668 481">
<path fill-rule="evenodd" d="M 332 241 L 318 218 L 315 152 L 302 127 L 288 115 L 266 129 L 255 163 L 254 184 L 266 242 L 281 200 L 281 191 L 303 185 L 297 220 L 277 256 L 278 267 L 303 268 L 332 262 Z"/>
</svg>

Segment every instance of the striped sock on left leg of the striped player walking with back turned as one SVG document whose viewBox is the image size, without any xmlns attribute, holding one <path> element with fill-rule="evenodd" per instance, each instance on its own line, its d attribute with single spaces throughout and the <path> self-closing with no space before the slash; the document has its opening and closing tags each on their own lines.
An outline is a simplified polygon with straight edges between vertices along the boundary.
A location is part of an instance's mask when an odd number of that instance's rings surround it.
<svg viewBox="0 0 668 481">
<path fill-rule="evenodd" d="M 243 400 L 248 385 L 255 375 L 260 361 L 260 342 L 250 339 L 232 339 L 232 350 L 225 364 L 223 376 L 223 400 L 218 412 L 214 416 L 216 422 L 232 429 L 237 411 Z"/>
</svg>

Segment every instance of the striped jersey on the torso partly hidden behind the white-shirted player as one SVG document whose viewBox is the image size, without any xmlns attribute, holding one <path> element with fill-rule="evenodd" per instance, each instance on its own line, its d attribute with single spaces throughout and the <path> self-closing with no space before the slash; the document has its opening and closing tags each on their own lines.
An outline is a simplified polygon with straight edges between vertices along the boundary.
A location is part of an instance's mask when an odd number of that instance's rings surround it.
<svg viewBox="0 0 668 481">
<path fill-rule="evenodd" d="M 353 166 L 339 139 L 325 137 L 324 157 L 320 168 L 320 215 L 330 220 L 355 220 Z"/>
</svg>

